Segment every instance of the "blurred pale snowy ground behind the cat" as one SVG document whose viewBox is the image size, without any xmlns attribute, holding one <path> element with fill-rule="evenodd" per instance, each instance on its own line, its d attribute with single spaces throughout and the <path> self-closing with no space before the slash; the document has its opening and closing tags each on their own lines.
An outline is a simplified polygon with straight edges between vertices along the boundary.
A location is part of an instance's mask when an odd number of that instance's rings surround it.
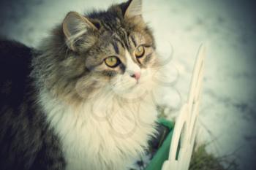
<svg viewBox="0 0 256 170">
<path fill-rule="evenodd" d="M 121 0 L 1 1 L 0 34 L 36 47 L 70 10 L 107 8 Z M 195 54 L 208 46 L 200 123 L 208 150 L 232 155 L 241 169 L 256 162 L 256 17 L 255 4 L 238 0 L 144 0 L 144 16 L 154 29 L 159 52 L 174 55 L 176 88 L 186 100 Z M 175 69 L 173 69 L 175 72 Z M 170 97 L 171 106 L 178 101 Z M 206 131 L 207 129 L 207 131 Z M 208 131 L 211 131 L 209 133 Z"/>
</svg>

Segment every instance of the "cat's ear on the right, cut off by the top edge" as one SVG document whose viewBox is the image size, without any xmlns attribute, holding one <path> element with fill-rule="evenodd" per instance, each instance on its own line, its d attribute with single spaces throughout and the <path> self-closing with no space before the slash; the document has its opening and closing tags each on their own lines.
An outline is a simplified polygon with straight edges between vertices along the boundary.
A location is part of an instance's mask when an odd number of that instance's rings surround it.
<svg viewBox="0 0 256 170">
<path fill-rule="evenodd" d="M 142 1 L 129 0 L 128 7 L 125 10 L 124 18 L 141 18 L 142 17 Z"/>
</svg>

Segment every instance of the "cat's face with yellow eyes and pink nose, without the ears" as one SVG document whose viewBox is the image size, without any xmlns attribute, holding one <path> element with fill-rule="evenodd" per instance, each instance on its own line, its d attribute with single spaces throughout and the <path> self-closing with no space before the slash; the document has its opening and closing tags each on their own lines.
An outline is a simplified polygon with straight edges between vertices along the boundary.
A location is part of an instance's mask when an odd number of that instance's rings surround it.
<svg viewBox="0 0 256 170">
<path fill-rule="evenodd" d="M 105 31 L 99 36 L 86 67 L 97 82 L 116 93 L 129 93 L 148 81 L 156 58 L 152 39 L 145 32 L 119 29 L 121 33 Z M 120 38 L 120 34 L 125 36 Z"/>
</svg>

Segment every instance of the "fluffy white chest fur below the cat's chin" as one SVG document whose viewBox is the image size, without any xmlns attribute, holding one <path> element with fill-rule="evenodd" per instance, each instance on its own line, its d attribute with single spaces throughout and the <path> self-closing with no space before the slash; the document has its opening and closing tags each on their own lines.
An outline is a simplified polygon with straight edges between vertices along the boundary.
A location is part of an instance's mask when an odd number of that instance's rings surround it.
<svg viewBox="0 0 256 170">
<path fill-rule="evenodd" d="M 68 170 L 128 169 L 143 154 L 157 119 L 150 97 L 99 98 L 74 108 L 41 93 L 41 104 L 61 139 Z"/>
</svg>

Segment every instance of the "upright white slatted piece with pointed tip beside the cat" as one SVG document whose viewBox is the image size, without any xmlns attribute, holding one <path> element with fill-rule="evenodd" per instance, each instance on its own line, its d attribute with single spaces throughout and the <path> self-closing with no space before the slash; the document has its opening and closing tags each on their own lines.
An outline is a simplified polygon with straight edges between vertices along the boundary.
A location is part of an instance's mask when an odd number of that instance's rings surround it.
<svg viewBox="0 0 256 170">
<path fill-rule="evenodd" d="M 206 57 L 206 47 L 200 46 L 190 83 L 189 96 L 187 102 L 181 107 L 181 111 L 176 118 L 173 130 L 173 138 L 170 144 L 169 159 L 165 161 L 162 170 L 188 170 L 192 157 L 197 132 L 197 116 L 200 106 L 200 92 L 203 84 L 204 61 Z M 181 140 L 178 160 L 178 143 Z"/>
</svg>

